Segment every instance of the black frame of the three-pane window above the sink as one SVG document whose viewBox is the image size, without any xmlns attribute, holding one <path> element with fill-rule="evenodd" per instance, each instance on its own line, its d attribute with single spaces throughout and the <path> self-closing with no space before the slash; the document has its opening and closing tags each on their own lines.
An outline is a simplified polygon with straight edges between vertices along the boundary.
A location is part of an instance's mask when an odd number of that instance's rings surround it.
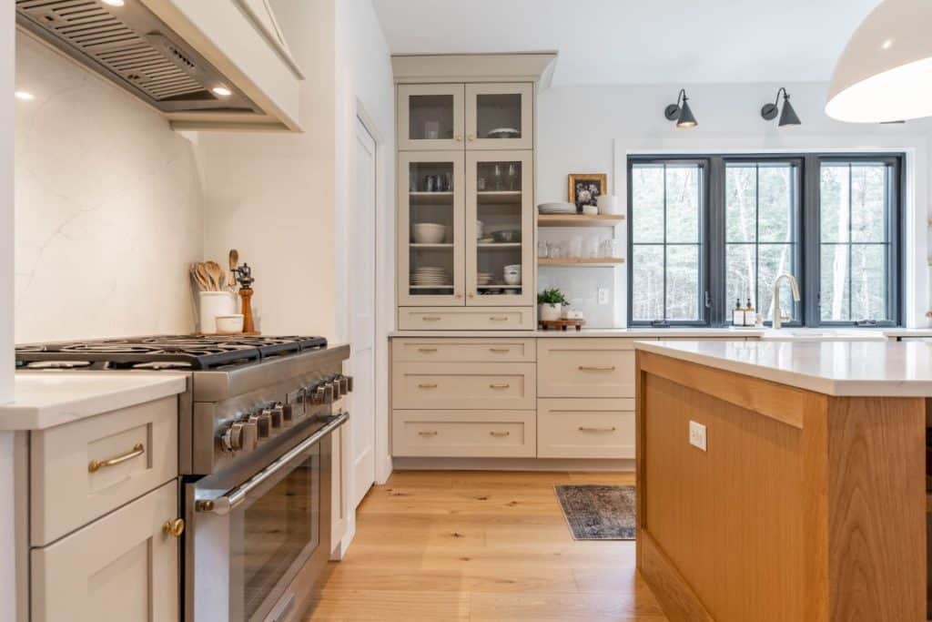
<svg viewBox="0 0 932 622">
<path fill-rule="evenodd" d="M 904 325 L 902 292 L 906 278 L 903 258 L 903 241 L 906 223 L 903 218 L 903 197 L 906 187 L 905 154 L 892 152 L 793 152 L 793 153 L 736 153 L 736 154 L 669 154 L 630 155 L 627 159 L 627 325 L 629 326 L 727 326 L 731 324 L 730 305 L 725 300 L 727 284 L 726 266 L 726 178 L 729 162 L 792 162 L 798 169 L 797 214 L 794 219 L 796 239 L 794 262 L 800 267 L 802 303 L 794 304 L 794 320 L 784 325 L 807 327 L 894 327 Z M 890 167 L 891 181 L 887 196 L 886 227 L 890 242 L 887 250 L 887 317 L 885 321 L 863 322 L 825 321 L 820 314 L 821 287 L 821 209 L 820 187 L 823 162 L 884 163 Z M 632 319 L 633 219 L 632 170 L 635 164 L 697 163 L 703 169 L 700 193 L 700 310 L 702 319 L 686 321 L 650 321 Z M 703 299 L 705 295 L 705 300 Z M 705 305 L 703 304 L 705 302 Z M 760 301 L 759 301 L 760 305 Z M 766 322 L 765 325 L 771 325 Z"/>
</svg>

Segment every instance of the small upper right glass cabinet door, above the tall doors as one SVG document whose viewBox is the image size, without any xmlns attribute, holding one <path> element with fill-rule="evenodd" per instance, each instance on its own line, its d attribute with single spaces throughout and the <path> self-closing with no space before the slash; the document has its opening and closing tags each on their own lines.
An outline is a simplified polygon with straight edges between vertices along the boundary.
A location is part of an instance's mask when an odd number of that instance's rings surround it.
<svg viewBox="0 0 932 622">
<path fill-rule="evenodd" d="M 466 148 L 533 148 L 533 97 L 529 83 L 467 84 Z"/>
</svg>

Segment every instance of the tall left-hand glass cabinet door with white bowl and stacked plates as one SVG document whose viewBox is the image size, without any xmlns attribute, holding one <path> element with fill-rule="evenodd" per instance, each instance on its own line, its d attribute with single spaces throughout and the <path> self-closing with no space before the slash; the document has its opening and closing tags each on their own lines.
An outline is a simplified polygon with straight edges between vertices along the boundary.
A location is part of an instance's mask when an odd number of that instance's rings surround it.
<svg viewBox="0 0 932 622">
<path fill-rule="evenodd" d="M 398 166 L 400 306 L 462 306 L 463 152 L 403 153 Z"/>
</svg>

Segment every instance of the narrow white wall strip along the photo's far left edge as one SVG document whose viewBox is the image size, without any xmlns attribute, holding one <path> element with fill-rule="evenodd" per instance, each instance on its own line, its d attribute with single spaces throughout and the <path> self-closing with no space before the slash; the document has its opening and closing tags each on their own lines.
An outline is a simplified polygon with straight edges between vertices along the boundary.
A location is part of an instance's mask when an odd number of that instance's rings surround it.
<svg viewBox="0 0 932 622">
<path fill-rule="evenodd" d="M 0 11 L 0 404 L 13 398 L 13 4 Z M 13 434 L 0 432 L 0 620 L 16 618 Z"/>
</svg>

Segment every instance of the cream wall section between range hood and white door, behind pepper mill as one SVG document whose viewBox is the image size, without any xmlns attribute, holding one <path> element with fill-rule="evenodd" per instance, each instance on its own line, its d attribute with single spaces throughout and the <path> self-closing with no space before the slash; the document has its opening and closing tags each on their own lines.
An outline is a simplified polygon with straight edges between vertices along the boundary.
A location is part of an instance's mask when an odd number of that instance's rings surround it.
<svg viewBox="0 0 932 622">
<path fill-rule="evenodd" d="M 336 339 L 334 0 L 272 7 L 295 60 L 302 133 L 201 133 L 204 255 L 230 248 L 253 267 L 254 311 L 269 335 Z"/>
</svg>

